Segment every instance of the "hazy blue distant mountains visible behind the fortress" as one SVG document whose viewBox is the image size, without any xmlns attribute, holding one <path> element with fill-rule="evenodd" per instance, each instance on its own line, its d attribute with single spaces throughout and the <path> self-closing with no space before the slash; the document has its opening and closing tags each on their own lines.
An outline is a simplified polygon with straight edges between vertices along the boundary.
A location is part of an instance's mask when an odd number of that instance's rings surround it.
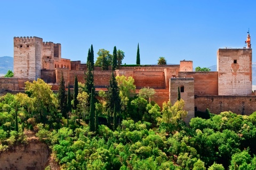
<svg viewBox="0 0 256 170">
<path fill-rule="evenodd" d="M 211 71 L 217 71 L 217 65 L 212 65 L 208 68 L 211 69 Z M 5 75 L 8 70 L 13 71 L 13 57 L 0 57 L 0 76 Z M 256 63 L 252 63 L 252 84 L 256 85 Z"/>
</svg>

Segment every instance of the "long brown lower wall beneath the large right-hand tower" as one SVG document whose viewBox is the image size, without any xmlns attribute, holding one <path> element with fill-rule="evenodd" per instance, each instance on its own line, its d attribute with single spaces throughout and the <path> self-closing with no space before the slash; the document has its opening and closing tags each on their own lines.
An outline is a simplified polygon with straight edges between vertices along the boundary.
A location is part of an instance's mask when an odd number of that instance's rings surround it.
<svg viewBox="0 0 256 170">
<path fill-rule="evenodd" d="M 195 96 L 195 108 L 201 112 L 209 108 L 214 114 L 231 111 L 250 115 L 256 111 L 256 96 Z"/>
</svg>

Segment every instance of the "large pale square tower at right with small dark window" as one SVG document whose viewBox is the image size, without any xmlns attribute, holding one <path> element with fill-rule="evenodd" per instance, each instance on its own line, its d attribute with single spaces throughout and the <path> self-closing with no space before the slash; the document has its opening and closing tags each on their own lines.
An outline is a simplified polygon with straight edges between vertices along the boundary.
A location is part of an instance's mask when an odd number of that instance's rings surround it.
<svg viewBox="0 0 256 170">
<path fill-rule="evenodd" d="M 219 95 L 252 94 L 252 49 L 220 48 L 217 53 Z"/>
</svg>

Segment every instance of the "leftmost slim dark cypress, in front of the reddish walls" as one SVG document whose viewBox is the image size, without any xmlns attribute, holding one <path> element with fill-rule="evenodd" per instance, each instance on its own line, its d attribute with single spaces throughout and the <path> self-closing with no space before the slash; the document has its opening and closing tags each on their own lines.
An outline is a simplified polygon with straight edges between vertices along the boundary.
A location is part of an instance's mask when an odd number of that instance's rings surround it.
<svg viewBox="0 0 256 170">
<path fill-rule="evenodd" d="M 61 71 L 61 77 L 60 77 L 60 86 L 59 86 L 59 91 L 58 91 L 58 100 L 59 100 L 59 105 L 60 105 L 60 112 L 62 116 L 66 116 L 66 96 L 65 96 L 65 81 L 63 78 L 63 72 Z"/>
</svg>

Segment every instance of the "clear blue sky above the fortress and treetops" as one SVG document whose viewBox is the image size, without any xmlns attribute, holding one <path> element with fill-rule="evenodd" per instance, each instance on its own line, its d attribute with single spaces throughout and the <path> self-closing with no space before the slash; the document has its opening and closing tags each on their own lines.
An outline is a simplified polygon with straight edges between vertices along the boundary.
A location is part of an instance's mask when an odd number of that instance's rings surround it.
<svg viewBox="0 0 256 170">
<path fill-rule="evenodd" d="M 217 50 L 243 48 L 250 28 L 252 48 L 256 1 L 1 1 L 0 56 L 13 56 L 13 37 L 37 36 L 60 43 L 62 58 L 94 61 L 104 48 L 125 52 L 123 64 L 192 60 L 194 67 L 217 63 Z M 254 55 L 253 55 L 254 56 Z M 254 58 L 253 58 L 253 61 Z"/>
</svg>

